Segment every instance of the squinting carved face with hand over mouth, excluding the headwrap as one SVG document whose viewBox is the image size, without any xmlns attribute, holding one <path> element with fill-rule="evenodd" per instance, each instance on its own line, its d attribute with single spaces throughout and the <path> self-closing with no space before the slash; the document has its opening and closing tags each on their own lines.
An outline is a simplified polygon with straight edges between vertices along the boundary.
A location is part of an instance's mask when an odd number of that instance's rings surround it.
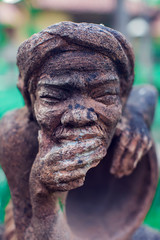
<svg viewBox="0 0 160 240">
<path fill-rule="evenodd" d="M 121 116 L 114 65 L 98 53 L 68 52 L 50 57 L 36 84 L 40 181 L 56 190 L 81 186 L 106 155 Z"/>
</svg>

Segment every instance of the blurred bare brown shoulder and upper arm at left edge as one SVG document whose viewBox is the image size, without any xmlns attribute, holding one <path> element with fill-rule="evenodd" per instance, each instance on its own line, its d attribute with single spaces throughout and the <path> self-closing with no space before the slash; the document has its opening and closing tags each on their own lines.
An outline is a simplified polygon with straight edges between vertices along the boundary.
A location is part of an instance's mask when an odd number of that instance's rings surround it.
<svg viewBox="0 0 160 240">
<path fill-rule="evenodd" d="M 18 239 L 23 239 L 32 215 L 29 174 L 38 151 L 37 132 L 26 108 L 6 114 L 0 122 L 0 160 L 11 190 Z"/>
</svg>

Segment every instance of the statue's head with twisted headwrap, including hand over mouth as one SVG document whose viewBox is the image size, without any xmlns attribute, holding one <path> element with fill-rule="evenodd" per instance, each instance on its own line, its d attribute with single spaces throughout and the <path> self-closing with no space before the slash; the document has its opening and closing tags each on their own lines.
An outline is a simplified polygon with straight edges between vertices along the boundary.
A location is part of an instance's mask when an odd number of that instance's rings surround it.
<svg viewBox="0 0 160 240">
<path fill-rule="evenodd" d="M 105 157 L 131 90 L 130 44 L 101 25 L 62 22 L 22 43 L 17 65 L 18 87 L 40 127 L 41 181 L 58 190 L 82 185 Z"/>
</svg>

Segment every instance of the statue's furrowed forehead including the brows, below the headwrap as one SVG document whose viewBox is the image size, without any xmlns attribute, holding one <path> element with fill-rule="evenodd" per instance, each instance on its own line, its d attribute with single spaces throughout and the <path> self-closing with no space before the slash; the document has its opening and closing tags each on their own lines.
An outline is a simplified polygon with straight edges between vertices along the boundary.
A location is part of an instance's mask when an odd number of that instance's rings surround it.
<svg viewBox="0 0 160 240">
<path fill-rule="evenodd" d="M 119 84 L 114 63 L 106 56 L 87 50 L 50 56 L 39 71 L 38 86 L 86 88 Z"/>
</svg>

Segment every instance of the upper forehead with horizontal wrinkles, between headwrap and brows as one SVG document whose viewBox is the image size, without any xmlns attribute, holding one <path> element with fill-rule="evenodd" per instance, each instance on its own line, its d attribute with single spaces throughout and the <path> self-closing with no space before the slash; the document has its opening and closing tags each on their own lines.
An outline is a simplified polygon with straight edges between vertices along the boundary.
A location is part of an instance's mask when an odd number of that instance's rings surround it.
<svg viewBox="0 0 160 240">
<path fill-rule="evenodd" d="M 51 55 L 42 65 L 39 75 L 44 73 L 60 74 L 69 71 L 110 71 L 115 72 L 113 62 L 106 56 L 86 51 L 67 51 Z"/>
</svg>

